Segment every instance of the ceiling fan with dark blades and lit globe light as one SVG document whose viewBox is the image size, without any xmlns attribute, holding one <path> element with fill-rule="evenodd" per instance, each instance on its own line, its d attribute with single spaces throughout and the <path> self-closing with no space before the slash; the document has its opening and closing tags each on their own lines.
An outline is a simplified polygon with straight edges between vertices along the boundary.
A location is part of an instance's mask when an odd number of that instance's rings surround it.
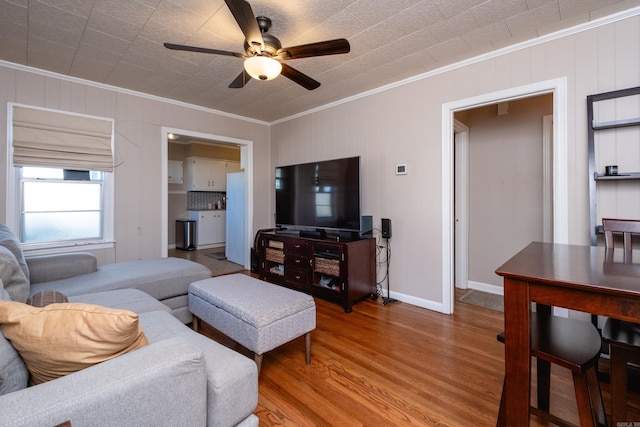
<svg viewBox="0 0 640 427">
<path fill-rule="evenodd" d="M 244 33 L 244 49 L 246 53 L 173 43 L 164 43 L 164 46 L 173 50 L 244 58 L 244 69 L 231 82 L 230 88 L 244 87 L 250 77 L 257 80 L 272 80 L 282 74 L 300 86 L 313 90 L 320 86 L 318 81 L 278 60 L 287 61 L 289 59 L 309 58 L 312 56 L 336 55 L 348 53 L 351 50 L 351 46 L 346 39 L 327 40 L 283 48 L 280 40 L 271 34 L 267 34 L 271 27 L 269 18 L 264 16 L 254 17 L 251 5 L 245 0 L 225 0 L 225 3 Z"/>
</svg>

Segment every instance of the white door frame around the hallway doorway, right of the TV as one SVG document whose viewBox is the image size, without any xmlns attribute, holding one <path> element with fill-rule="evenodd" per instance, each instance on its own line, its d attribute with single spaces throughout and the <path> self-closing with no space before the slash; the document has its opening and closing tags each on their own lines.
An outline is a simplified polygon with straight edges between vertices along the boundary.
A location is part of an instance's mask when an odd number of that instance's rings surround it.
<svg viewBox="0 0 640 427">
<path fill-rule="evenodd" d="M 551 93 L 553 95 L 553 241 L 568 243 L 567 78 L 546 80 L 442 105 L 442 310 L 454 309 L 454 113 Z M 506 261 L 506 260 L 505 260 Z M 498 266 L 496 266 L 498 267 Z"/>
</svg>

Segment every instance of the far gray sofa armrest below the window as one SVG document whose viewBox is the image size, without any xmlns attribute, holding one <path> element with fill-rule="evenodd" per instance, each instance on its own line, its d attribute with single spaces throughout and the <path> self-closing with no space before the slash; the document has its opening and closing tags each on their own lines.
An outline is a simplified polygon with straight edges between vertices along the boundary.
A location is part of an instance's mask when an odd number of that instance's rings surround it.
<svg viewBox="0 0 640 427">
<path fill-rule="evenodd" d="M 98 260 L 90 252 L 28 257 L 31 284 L 66 279 L 98 270 Z"/>
</svg>

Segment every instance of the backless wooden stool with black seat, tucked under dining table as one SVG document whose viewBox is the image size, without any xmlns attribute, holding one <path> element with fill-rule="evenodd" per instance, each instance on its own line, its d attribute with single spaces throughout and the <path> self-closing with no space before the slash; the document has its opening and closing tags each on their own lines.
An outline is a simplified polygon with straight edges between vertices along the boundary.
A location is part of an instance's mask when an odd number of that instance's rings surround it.
<svg viewBox="0 0 640 427">
<path fill-rule="evenodd" d="M 504 332 L 498 334 L 504 343 Z M 551 363 L 571 370 L 581 426 L 606 426 L 597 377 L 601 338 L 590 322 L 531 313 L 531 356 L 537 361 L 537 407 L 529 412 L 559 426 L 573 426 L 549 413 Z M 502 388 L 497 426 L 506 426 L 505 387 Z"/>
</svg>

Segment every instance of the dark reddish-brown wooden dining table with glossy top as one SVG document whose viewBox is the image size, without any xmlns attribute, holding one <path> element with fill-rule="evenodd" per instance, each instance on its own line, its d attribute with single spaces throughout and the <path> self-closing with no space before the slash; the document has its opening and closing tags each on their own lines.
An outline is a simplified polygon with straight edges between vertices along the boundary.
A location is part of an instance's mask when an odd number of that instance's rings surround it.
<svg viewBox="0 0 640 427">
<path fill-rule="evenodd" d="M 496 273 L 504 278 L 506 425 L 527 426 L 531 303 L 640 322 L 640 251 L 533 242 Z"/>
</svg>

